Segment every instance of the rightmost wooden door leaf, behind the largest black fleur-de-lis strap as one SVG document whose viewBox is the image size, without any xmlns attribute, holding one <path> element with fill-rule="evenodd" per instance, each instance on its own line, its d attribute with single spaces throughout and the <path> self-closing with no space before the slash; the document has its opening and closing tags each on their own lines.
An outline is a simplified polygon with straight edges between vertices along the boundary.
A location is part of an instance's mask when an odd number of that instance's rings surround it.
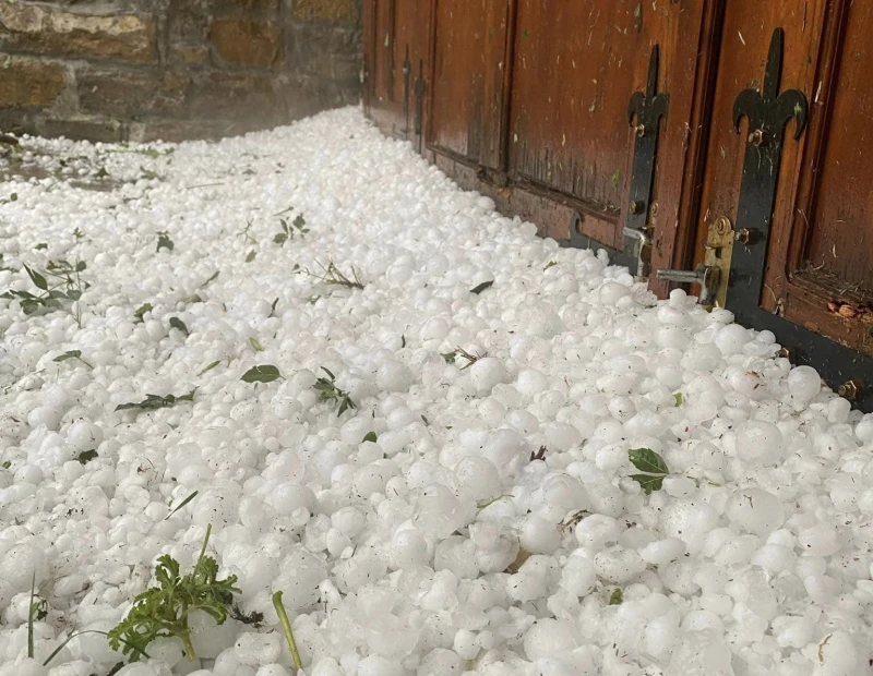
<svg viewBox="0 0 873 676">
<path fill-rule="evenodd" d="M 765 138 L 781 143 L 775 203 L 772 215 L 750 218 L 743 193 L 754 182 L 743 188 L 743 173 L 746 156 L 757 153 L 755 130 L 743 117 L 738 133 L 734 106 L 743 89 L 765 86 L 777 28 L 784 31 L 778 92 L 802 93 L 809 112 L 791 114 L 781 138 Z M 696 240 L 689 238 L 696 263 L 720 217 L 764 234 L 734 245 L 728 307 L 738 321 L 774 330 L 796 361 L 818 367 L 835 388 L 871 371 L 862 355 L 873 357 L 873 162 L 865 157 L 873 141 L 872 31 L 871 3 L 726 3 Z M 794 106 L 800 112 L 799 99 Z M 757 270 L 749 268 L 753 259 Z"/>
</svg>

